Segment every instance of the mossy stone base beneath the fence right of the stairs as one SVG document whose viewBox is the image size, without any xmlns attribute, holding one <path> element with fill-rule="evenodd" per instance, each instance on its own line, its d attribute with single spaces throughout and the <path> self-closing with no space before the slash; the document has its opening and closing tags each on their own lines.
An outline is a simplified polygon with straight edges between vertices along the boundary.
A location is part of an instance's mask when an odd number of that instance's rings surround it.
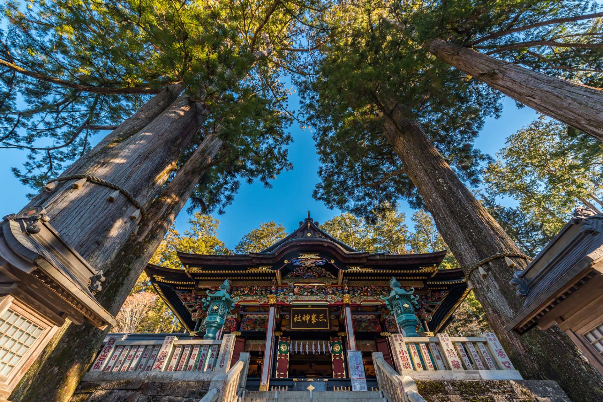
<svg viewBox="0 0 603 402">
<path fill-rule="evenodd" d="M 428 402 L 572 402 L 555 381 L 417 381 Z"/>
</svg>

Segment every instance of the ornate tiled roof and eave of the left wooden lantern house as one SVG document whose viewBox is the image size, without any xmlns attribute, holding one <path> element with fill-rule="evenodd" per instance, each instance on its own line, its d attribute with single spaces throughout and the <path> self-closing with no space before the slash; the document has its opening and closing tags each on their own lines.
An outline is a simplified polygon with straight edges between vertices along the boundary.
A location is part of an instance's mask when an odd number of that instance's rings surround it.
<svg viewBox="0 0 603 402">
<path fill-rule="evenodd" d="M 48 313 L 104 329 L 115 318 L 94 297 L 102 272 L 93 269 L 49 224 L 42 207 L 7 215 L 0 222 L 0 289 Z"/>
</svg>

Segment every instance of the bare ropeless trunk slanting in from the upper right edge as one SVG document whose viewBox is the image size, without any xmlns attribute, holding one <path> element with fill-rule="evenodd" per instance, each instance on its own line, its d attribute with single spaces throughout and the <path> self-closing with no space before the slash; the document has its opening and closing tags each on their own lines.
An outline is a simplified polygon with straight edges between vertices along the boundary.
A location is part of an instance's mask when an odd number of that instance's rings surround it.
<svg viewBox="0 0 603 402">
<path fill-rule="evenodd" d="M 510 98 L 603 141 L 603 90 L 540 74 L 440 39 L 430 40 L 425 47 Z"/>
</svg>

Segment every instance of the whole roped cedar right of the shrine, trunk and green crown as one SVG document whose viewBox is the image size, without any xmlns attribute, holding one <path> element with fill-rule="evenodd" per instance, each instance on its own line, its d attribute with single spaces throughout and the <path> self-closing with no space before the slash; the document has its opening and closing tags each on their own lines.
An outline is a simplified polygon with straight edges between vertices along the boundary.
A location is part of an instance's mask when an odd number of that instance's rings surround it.
<svg viewBox="0 0 603 402">
<path fill-rule="evenodd" d="M 461 181 L 478 182 L 485 157 L 472 143 L 484 116 L 499 112 L 497 93 L 429 55 L 411 30 L 392 29 L 394 19 L 419 24 L 415 10 L 383 5 L 333 8 L 327 18 L 344 34 L 324 39 L 300 82 L 322 163 L 315 197 L 356 215 L 400 199 L 425 206 L 466 270 L 500 251 L 520 252 Z M 487 269 L 469 281 L 516 368 L 557 380 L 574 401 L 603 398 L 601 374 L 558 328 L 522 337 L 504 330 L 522 300 L 502 259 Z"/>
</svg>

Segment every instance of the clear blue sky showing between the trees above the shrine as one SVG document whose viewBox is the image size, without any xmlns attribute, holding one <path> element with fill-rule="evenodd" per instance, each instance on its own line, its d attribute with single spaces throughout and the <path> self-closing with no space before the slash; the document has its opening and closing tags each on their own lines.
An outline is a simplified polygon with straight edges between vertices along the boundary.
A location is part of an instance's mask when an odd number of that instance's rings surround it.
<svg viewBox="0 0 603 402">
<path fill-rule="evenodd" d="M 297 107 L 296 101 L 296 97 L 291 99 L 291 107 Z M 484 130 L 476 140 L 476 146 L 494 156 L 504 146 L 510 134 L 529 124 L 535 116 L 535 111 L 528 107 L 517 109 L 513 99 L 505 97 L 501 118 L 487 120 Z M 312 134 L 307 129 L 301 130 L 297 125 L 293 125 L 289 131 L 294 139 L 289 145 L 289 157 L 294 169 L 280 174 L 272 182 L 272 189 L 265 189 L 261 183 L 247 184 L 243 181 L 234 202 L 226 207 L 226 213 L 216 216 L 221 222 L 219 238 L 227 247 L 234 248 L 242 236 L 261 222 L 281 223 L 290 232 L 297 228 L 298 222 L 303 220 L 308 210 L 312 218 L 320 223 L 341 213 L 328 209 L 323 203 L 312 198 L 312 190 L 318 182 L 318 156 Z M 95 140 L 98 141 L 103 133 L 97 134 Z M 13 166 L 21 167 L 25 155 L 26 152 L 16 149 L 0 149 L 0 183 L 3 192 L 0 197 L 0 216 L 18 212 L 27 203 L 25 195 L 31 192 L 31 189 L 23 186 L 10 171 Z M 514 205 L 510 199 L 503 199 L 502 203 Z M 406 213 L 407 224 L 412 227 L 412 222 L 408 219 L 412 210 L 406 204 L 403 204 L 400 210 Z M 188 227 L 188 219 L 186 210 L 178 215 L 176 228 L 181 233 Z"/>
</svg>

